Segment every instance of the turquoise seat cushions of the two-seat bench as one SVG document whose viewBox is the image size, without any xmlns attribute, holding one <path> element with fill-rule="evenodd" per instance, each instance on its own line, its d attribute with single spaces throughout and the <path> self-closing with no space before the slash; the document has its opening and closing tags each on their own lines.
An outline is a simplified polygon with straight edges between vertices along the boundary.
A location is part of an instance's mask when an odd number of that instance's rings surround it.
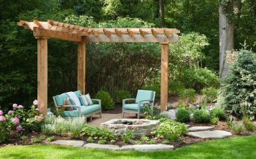
<svg viewBox="0 0 256 159">
<path fill-rule="evenodd" d="M 89 113 L 93 113 L 95 111 L 99 111 L 100 110 L 100 105 L 99 104 L 93 104 L 91 106 L 81 106 L 81 114 L 82 115 L 87 115 Z M 73 111 L 64 111 L 63 112 L 63 117 L 67 118 L 67 117 L 78 117 L 79 113 L 78 113 L 78 109 L 77 110 L 73 110 Z"/>
</svg>

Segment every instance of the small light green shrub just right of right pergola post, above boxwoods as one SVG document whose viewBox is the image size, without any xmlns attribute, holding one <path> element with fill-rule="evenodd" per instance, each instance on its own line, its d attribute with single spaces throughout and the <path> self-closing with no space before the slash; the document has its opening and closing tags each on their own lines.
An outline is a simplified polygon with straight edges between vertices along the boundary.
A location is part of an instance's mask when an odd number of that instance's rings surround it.
<svg viewBox="0 0 256 159">
<path fill-rule="evenodd" d="M 179 92 L 179 98 L 187 105 L 193 104 L 196 102 L 196 91 L 192 88 L 183 89 L 183 91 Z"/>
</svg>

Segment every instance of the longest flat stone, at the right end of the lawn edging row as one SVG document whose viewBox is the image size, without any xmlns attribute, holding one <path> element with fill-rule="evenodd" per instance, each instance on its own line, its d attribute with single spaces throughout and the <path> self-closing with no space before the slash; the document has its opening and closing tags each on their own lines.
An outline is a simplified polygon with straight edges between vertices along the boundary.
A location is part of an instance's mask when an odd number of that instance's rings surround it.
<svg viewBox="0 0 256 159">
<path fill-rule="evenodd" d="M 172 150 L 174 146 L 167 144 L 134 144 L 122 146 L 120 150 L 136 150 L 142 152 Z"/>
</svg>

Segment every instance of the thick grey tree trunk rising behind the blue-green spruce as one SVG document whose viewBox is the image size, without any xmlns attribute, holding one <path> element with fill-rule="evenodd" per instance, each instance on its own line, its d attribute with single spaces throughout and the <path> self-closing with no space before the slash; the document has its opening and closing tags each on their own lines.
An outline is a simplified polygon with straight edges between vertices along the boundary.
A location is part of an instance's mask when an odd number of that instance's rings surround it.
<svg viewBox="0 0 256 159">
<path fill-rule="evenodd" d="M 219 77 L 221 80 L 228 74 L 226 52 L 234 48 L 234 22 L 228 19 L 228 14 L 223 10 L 225 6 L 219 3 Z M 230 3 L 232 10 L 233 3 Z"/>
</svg>

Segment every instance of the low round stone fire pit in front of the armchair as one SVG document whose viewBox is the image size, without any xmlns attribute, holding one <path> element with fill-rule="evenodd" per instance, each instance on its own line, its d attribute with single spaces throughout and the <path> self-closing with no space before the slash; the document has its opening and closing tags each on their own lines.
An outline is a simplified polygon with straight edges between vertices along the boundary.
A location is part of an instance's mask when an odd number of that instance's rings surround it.
<svg viewBox="0 0 256 159">
<path fill-rule="evenodd" d="M 156 130 L 158 120 L 143 120 L 143 119 L 113 119 L 100 124 L 100 127 L 112 129 L 116 135 L 122 135 L 127 130 L 134 130 L 134 135 L 143 136 L 150 135 Z"/>
</svg>

